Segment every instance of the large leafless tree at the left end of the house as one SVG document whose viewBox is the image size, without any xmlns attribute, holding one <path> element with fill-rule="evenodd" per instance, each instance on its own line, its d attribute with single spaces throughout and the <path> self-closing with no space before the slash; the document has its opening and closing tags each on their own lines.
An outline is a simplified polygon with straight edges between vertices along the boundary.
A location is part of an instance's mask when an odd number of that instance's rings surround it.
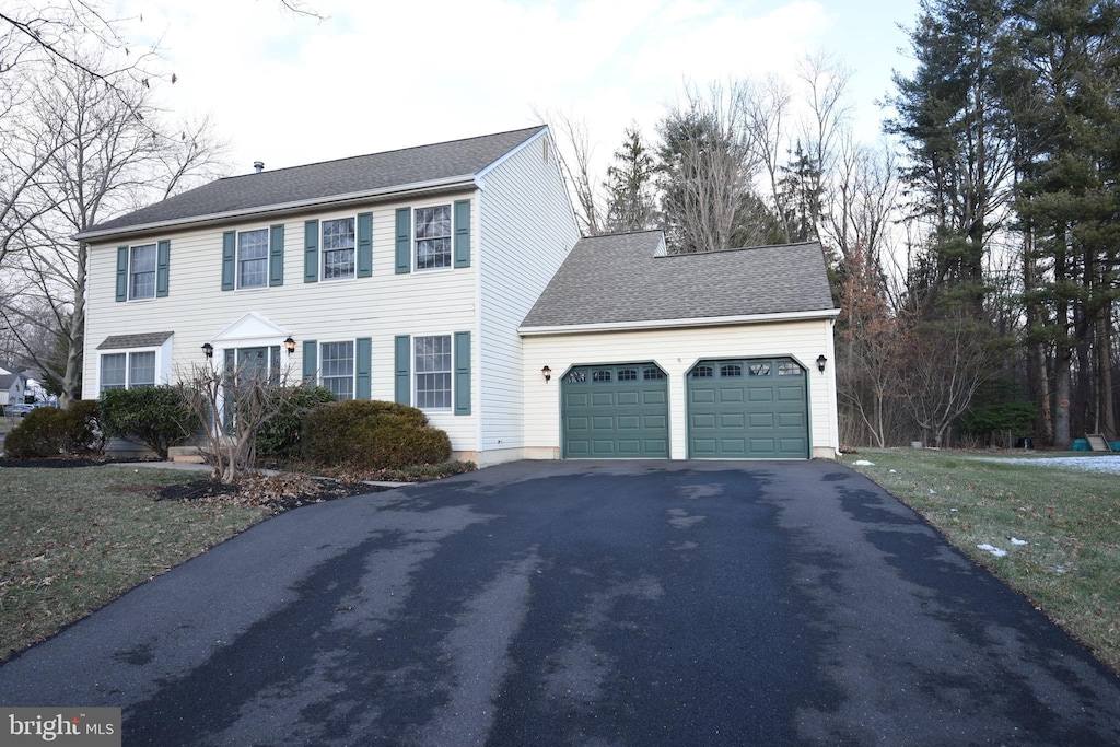
<svg viewBox="0 0 1120 747">
<path fill-rule="evenodd" d="M 223 149 L 208 120 L 172 130 L 149 88 L 133 82 L 109 88 L 84 67 L 38 81 L 37 100 L 16 122 L 28 147 L 0 157 L 11 170 L 29 170 L 21 159 L 36 166 L 4 233 L 18 250 L 27 292 L 46 304 L 66 337 L 64 405 L 81 398 L 85 334 L 87 246 L 71 236 L 213 176 Z"/>
</svg>

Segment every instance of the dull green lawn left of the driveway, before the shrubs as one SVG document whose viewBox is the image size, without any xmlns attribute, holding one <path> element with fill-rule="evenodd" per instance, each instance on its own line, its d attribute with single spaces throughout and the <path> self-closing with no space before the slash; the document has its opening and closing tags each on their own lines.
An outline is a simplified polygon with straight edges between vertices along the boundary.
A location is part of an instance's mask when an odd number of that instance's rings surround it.
<svg viewBox="0 0 1120 747">
<path fill-rule="evenodd" d="M 269 515 L 156 501 L 197 477 L 115 465 L 0 469 L 0 661 Z"/>
</svg>

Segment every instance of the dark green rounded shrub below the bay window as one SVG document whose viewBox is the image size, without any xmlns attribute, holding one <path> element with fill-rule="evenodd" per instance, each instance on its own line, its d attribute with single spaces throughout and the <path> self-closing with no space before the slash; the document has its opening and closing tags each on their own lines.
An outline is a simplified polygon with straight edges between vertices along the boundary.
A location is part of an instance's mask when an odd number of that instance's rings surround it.
<svg viewBox="0 0 1120 747">
<path fill-rule="evenodd" d="M 167 449 L 202 426 L 183 394 L 174 386 L 114 389 L 101 395 L 105 436 L 136 437 L 167 459 Z"/>
</svg>

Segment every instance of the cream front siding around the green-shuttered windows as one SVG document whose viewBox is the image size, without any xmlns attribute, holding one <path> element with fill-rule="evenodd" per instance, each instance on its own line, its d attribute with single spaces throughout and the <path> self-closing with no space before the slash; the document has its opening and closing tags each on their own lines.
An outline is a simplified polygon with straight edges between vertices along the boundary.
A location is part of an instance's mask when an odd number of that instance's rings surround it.
<svg viewBox="0 0 1120 747">
<path fill-rule="evenodd" d="M 289 361 L 298 377 L 302 371 L 302 343 L 372 338 L 372 395 L 393 399 L 393 339 L 396 335 L 451 335 L 470 332 L 476 339 L 478 232 L 472 232 L 472 267 L 395 274 L 395 209 L 449 204 L 472 198 L 477 228 L 477 193 L 456 194 L 394 204 L 360 206 L 345 211 L 300 215 L 284 223 L 284 284 L 235 291 L 222 290 L 222 233 L 260 228 L 280 223 L 261 221 L 205 231 L 161 234 L 171 241 L 169 295 L 143 301 L 114 300 L 116 243 L 90 252 L 86 348 L 83 395 L 99 391 L 97 345 L 110 335 L 174 332 L 171 366 L 176 377 L 204 363 L 203 343 L 213 343 L 226 327 L 254 311 L 289 330 L 299 345 Z M 304 282 L 304 222 L 373 213 L 373 277 Z M 123 244 L 123 242 L 122 242 Z M 279 345 L 280 339 L 272 344 Z M 478 360 L 473 356 L 470 415 L 429 412 L 431 422 L 448 432 L 456 451 L 478 449 Z M 217 357 L 215 356 L 215 360 Z"/>
</svg>

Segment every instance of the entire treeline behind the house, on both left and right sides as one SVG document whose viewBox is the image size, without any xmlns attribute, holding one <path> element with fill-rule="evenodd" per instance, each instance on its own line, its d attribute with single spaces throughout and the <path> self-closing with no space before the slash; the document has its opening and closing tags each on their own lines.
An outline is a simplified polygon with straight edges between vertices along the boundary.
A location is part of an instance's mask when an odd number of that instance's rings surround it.
<svg viewBox="0 0 1120 747">
<path fill-rule="evenodd" d="M 875 142 L 827 55 L 790 78 L 687 86 L 604 175 L 580 119 L 544 119 L 587 234 L 821 243 L 842 443 L 1114 440 L 1118 4 L 925 0 Z M 220 123 L 161 110 L 175 75 L 104 7 L 0 10 L 0 357 L 46 371 L 64 401 L 84 345 L 69 236 L 223 170 Z"/>
</svg>

